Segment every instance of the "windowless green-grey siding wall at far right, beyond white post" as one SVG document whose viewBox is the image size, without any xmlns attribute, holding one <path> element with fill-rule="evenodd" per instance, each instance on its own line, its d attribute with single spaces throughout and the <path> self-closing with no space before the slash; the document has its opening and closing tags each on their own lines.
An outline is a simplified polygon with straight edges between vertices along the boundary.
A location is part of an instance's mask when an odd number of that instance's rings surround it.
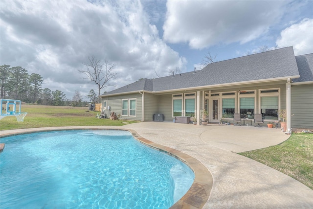
<svg viewBox="0 0 313 209">
<path fill-rule="evenodd" d="M 291 128 L 313 129 L 313 84 L 291 86 Z"/>
</svg>

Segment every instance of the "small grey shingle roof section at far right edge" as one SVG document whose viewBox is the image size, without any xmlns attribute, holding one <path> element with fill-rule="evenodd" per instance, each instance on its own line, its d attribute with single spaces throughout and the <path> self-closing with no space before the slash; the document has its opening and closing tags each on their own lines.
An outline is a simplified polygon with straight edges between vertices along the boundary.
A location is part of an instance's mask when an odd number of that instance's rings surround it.
<svg viewBox="0 0 313 209">
<path fill-rule="evenodd" d="M 294 83 L 313 81 L 313 54 L 295 57 L 300 73 L 300 78 L 293 79 Z"/>
</svg>

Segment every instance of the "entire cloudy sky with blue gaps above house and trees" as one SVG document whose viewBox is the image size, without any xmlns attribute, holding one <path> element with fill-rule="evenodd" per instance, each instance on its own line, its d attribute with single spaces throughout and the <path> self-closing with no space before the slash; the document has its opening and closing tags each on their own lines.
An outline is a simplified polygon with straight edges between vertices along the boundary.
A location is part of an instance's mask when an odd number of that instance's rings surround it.
<svg viewBox="0 0 313 209">
<path fill-rule="evenodd" d="M 169 70 L 200 70 L 260 46 L 313 53 L 313 1 L 287 0 L 1 0 L 0 64 L 44 78 L 43 88 L 72 98 L 97 86 L 83 80 L 88 56 L 115 64 L 102 90 Z"/>
</svg>

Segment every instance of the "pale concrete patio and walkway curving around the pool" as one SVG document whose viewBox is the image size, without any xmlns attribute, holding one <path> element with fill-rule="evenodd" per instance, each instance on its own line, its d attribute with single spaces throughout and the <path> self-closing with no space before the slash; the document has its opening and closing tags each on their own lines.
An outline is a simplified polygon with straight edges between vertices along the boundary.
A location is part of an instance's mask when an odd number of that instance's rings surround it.
<svg viewBox="0 0 313 209">
<path fill-rule="evenodd" d="M 131 129 L 145 139 L 198 159 L 213 176 L 213 187 L 204 209 L 313 209 L 312 189 L 275 169 L 234 153 L 268 147 L 288 139 L 289 136 L 279 129 L 170 122 L 90 128 Z M 58 129 L 60 127 L 9 130 L 1 131 L 0 136 Z"/>
</svg>

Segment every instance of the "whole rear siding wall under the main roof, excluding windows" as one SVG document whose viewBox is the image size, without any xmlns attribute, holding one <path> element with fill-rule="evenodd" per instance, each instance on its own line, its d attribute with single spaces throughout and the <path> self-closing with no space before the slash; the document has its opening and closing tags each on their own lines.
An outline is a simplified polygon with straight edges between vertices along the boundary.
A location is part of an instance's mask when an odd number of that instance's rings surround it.
<svg viewBox="0 0 313 209">
<path fill-rule="evenodd" d="M 286 80 L 287 82 L 287 80 Z M 239 105 L 239 91 L 247 91 L 247 90 L 254 90 L 256 92 L 256 110 L 255 113 L 260 113 L 259 107 L 259 90 L 260 89 L 275 89 L 280 88 L 280 109 L 286 109 L 286 83 L 284 82 L 271 82 L 271 83 L 261 83 L 256 86 L 252 85 L 242 85 L 242 86 L 234 86 L 234 87 L 227 87 L 227 88 L 216 88 L 216 89 L 206 89 L 205 93 L 225 93 L 225 92 L 236 92 L 236 105 L 235 109 L 238 110 Z M 190 91 L 192 93 L 200 91 L 200 111 L 203 109 L 204 99 L 205 96 L 203 95 L 203 90 L 193 90 Z M 187 92 L 175 92 L 177 93 L 187 93 Z M 144 93 L 144 121 L 153 121 L 153 115 L 164 114 L 164 120 L 166 121 L 173 121 L 174 117 L 172 116 L 172 108 L 173 108 L 173 94 L 153 94 L 153 93 Z M 121 116 L 123 119 L 130 119 L 130 120 L 139 120 L 141 121 L 141 106 L 142 106 L 142 95 L 140 93 L 134 94 L 125 94 L 125 95 L 118 95 L 118 96 L 109 96 L 103 97 L 102 100 L 107 100 L 107 106 L 111 106 L 111 112 L 115 112 L 116 115 L 122 113 L 122 99 L 128 98 L 136 98 L 136 117 L 134 116 Z M 208 104 L 208 114 L 211 114 L 211 96 L 209 96 L 209 104 Z M 220 97 L 222 98 L 222 97 Z M 197 101 L 197 97 L 196 97 Z M 197 108 L 197 105 L 196 105 Z M 107 113 L 108 114 L 108 113 Z M 233 122 L 232 119 L 229 119 L 229 122 Z M 265 121 L 265 124 L 267 122 Z"/>
</svg>

